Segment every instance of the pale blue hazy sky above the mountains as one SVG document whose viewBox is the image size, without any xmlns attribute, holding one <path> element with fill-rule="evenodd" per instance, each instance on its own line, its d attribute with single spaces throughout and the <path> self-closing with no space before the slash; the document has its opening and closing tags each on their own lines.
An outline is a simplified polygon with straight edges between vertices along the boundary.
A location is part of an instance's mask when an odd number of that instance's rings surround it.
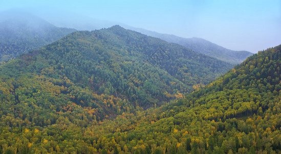
<svg viewBox="0 0 281 154">
<path fill-rule="evenodd" d="M 26 9 L 57 26 L 74 16 L 84 21 L 94 18 L 186 38 L 201 37 L 252 53 L 281 44 L 280 0 L 0 0 L 0 11 L 14 8 Z"/>
</svg>

